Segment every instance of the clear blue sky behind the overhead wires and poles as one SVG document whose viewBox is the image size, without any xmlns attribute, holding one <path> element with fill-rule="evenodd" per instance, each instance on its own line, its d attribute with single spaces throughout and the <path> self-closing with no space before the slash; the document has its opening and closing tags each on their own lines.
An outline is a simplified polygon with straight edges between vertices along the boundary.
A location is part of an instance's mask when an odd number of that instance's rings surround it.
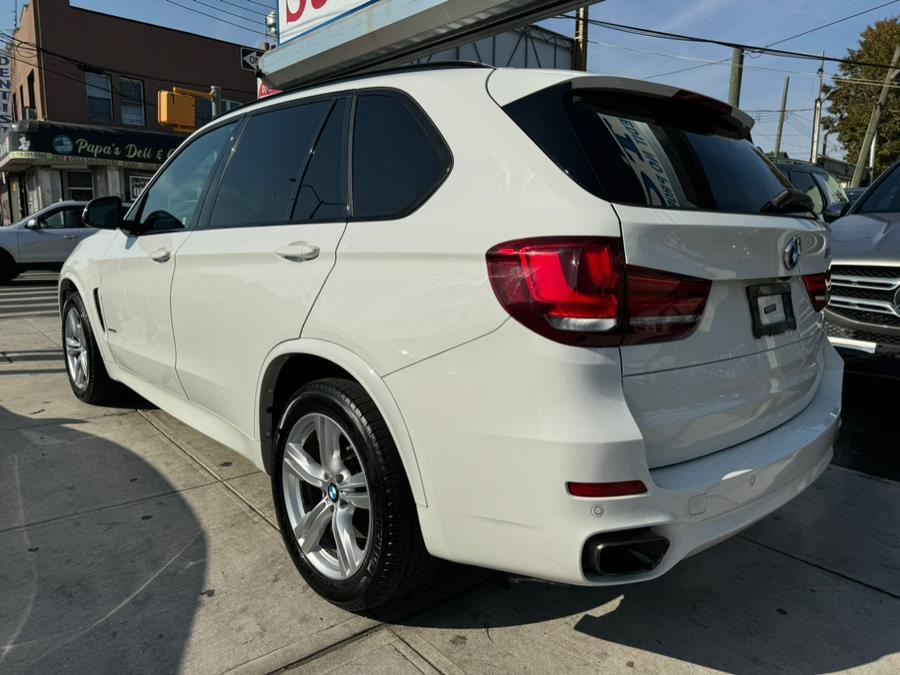
<svg viewBox="0 0 900 675">
<path fill-rule="evenodd" d="M 258 45 L 264 40 L 264 6 L 274 7 L 276 0 L 174 0 L 196 11 L 183 9 L 166 0 L 71 0 L 85 7 L 128 18 L 157 23 L 169 27 L 216 37 L 241 44 Z M 0 0 L 9 8 L 5 21 L 12 17 L 12 0 Z M 591 17 L 645 28 L 717 38 L 733 42 L 765 45 L 795 33 L 814 28 L 855 12 L 882 4 L 885 0 L 606 0 L 591 8 Z M 207 5 L 218 7 L 212 9 Z M 217 15 L 216 20 L 198 14 Z M 246 17 L 241 20 L 226 12 Z M 795 51 L 844 56 L 856 46 L 860 32 L 878 19 L 900 15 L 900 2 L 875 10 L 836 26 L 779 45 Z M 240 29 L 229 23 L 246 26 Z M 548 28 L 571 35 L 571 20 L 544 22 Z M 731 51 L 712 45 L 700 45 L 654 39 L 611 31 L 596 26 L 590 29 L 589 68 L 598 73 L 649 78 L 679 68 L 699 65 L 702 59 L 717 61 L 730 59 Z M 650 53 L 655 52 L 655 53 Z M 747 57 L 744 71 L 741 107 L 748 111 L 776 110 L 781 102 L 785 72 L 790 71 L 791 86 L 788 98 L 790 114 L 785 125 L 782 148 L 792 157 L 807 158 L 812 129 L 812 106 L 816 97 L 815 74 L 818 65 L 812 61 Z M 777 72 L 776 72 L 777 71 Z M 826 75 L 836 72 L 826 64 Z M 690 88 L 716 98 L 727 98 L 729 67 L 706 65 L 684 73 L 655 78 L 661 82 Z M 862 85 L 858 85 L 862 86 Z M 774 145 L 777 115 L 756 113 L 760 118 L 754 129 L 756 142 L 770 150 Z M 841 150 L 832 140 L 832 155 Z"/>
</svg>

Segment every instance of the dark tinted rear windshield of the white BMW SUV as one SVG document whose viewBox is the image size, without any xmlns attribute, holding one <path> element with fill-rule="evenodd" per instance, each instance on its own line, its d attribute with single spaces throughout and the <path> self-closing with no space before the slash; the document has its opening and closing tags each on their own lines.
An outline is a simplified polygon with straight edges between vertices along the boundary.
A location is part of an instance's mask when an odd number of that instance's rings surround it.
<svg viewBox="0 0 900 675">
<path fill-rule="evenodd" d="M 790 187 L 749 139 L 717 128 L 700 104 L 670 101 L 565 84 L 504 110 L 573 180 L 612 202 L 760 213 Z"/>
</svg>

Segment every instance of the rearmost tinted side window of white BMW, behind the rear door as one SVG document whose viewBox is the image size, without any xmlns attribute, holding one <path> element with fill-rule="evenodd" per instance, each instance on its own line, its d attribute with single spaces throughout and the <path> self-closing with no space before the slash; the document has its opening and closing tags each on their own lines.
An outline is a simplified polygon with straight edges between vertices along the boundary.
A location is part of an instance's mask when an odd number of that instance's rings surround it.
<svg viewBox="0 0 900 675">
<path fill-rule="evenodd" d="M 450 171 L 450 153 L 421 111 L 390 93 L 357 98 L 353 217 L 399 218 L 418 208 Z"/>
</svg>

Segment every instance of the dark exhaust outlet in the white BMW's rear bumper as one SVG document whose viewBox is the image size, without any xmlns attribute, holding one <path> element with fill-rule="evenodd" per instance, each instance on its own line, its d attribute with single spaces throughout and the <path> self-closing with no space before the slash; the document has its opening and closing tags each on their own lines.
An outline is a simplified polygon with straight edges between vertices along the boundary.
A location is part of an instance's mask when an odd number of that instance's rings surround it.
<svg viewBox="0 0 900 675">
<path fill-rule="evenodd" d="M 623 576 L 656 569 L 669 540 L 649 528 L 596 534 L 584 546 L 582 565 L 588 576 Z"/>
</svg>

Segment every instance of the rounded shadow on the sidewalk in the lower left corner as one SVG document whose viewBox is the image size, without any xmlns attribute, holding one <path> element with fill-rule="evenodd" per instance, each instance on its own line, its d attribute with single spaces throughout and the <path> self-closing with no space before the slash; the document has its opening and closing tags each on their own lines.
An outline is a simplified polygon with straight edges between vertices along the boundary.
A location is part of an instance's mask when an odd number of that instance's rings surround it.
<svg viewBox="0 0 900 675">
<path fill-rule="evenodd" d="M 90 421 L 3 414 L 0 671 L 179 669 L 206 574 L 190 505 Z"/>
</svg>

